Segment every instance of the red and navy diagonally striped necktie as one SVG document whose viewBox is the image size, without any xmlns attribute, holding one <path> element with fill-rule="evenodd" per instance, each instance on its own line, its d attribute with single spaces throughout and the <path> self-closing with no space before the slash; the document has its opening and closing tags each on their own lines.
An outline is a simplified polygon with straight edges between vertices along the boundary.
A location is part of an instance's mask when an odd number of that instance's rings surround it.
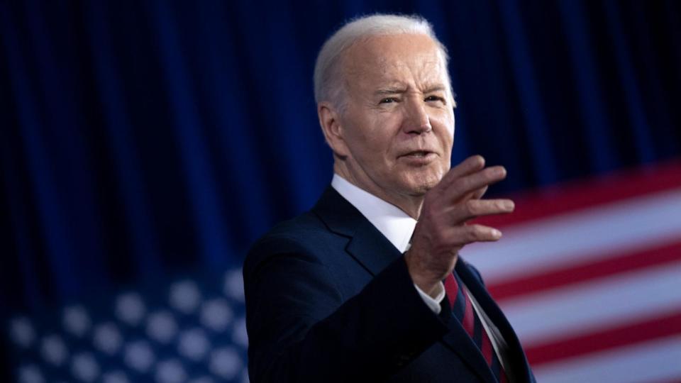
<svg viewBox="0 0 681 383">
<path fill-rule="evenodd" d="M 453 273 L 450 273 L 447 278 L 445 278 L 445 292 L 447 292 L 447 298 L 452 308 L 453 316 L 458 319 L 464 330 L 468 333 L 470 338 L 472 338 L 473 343 L 480 349 L 482 356 L 485 357 L 487 365 L 489 365 L 489 368 L 492 370 L 494 377 L 497 378 L 497 381 L 499 383 L 505 383 L 508 379 L 506 378 L 504 367 L 501 362 L 499 362 L 497 353 L 494 352 L 492 341 L 489 340 L 489 335 L 487 335 L 487 331 L 485 331 L 485 328 L 482 326 L 482 321 L 480 321 L 480 318 L 475 314 L 467 291 L 463 282 L 461 282 L 458 277 L 455 277 Z"/>
</svg>

